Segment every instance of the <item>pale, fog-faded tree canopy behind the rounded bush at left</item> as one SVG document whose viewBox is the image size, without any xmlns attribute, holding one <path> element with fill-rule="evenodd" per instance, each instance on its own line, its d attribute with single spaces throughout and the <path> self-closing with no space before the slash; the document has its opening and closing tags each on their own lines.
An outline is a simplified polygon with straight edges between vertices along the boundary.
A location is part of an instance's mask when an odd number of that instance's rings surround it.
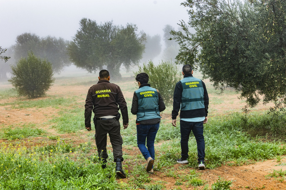
<svg viewBox="0 0 286 190">
<path fill-rule="evenodd" d="M 27 57 L 29 51 L 33 51 L 36 56 L 47 58 L 52 64 L 53 71 L 60 73 L 65 66 L 71 62 L 67 55 L 68 40 L 46 36 L 40 38 L 36 34 L 23 33 L 16 38 L 14 53 L 16 62 L 22 57 Z"/>
</svg>

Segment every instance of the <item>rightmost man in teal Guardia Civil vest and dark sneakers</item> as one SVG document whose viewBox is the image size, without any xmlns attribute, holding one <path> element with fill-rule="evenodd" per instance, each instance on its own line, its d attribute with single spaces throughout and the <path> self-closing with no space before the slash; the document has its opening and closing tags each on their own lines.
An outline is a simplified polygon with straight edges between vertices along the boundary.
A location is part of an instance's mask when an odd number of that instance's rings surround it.
<svg viewBox="0 0 286 190">
<path fill-rule="evenodd" d="M 204 82 L 193 77 L 190 65 L 183 66 L 182 74 L 184 78 L 175 86 L 172 111 L 172 125 L 176 126 L 180 110 L 181 158 L 177 162 L 188 163 L 188 140 L 192 131 L 197 143 L 198 168 L 205 169 L 203 124 L 208 122 L 208 92 Z"/>
</svg>

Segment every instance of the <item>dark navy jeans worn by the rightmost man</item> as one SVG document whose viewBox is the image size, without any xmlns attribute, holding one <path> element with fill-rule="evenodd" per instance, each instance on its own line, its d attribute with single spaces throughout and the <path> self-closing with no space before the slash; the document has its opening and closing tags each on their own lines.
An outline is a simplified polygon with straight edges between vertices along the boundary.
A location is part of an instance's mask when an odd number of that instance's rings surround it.
<svg viewBox="0 0 286 190">
<path fill-rule="evenodd" d="M 203 121 L 201 122 L 188 122 L 180 120 L 180 131 L 181 131 L 181 156 L 183 159 L 188 158 L 188 140 L 190 132 L 192 131 L 197 143 L 198 150 L 198 162 L 204 162 L 204 126 Z"/>
</svg>

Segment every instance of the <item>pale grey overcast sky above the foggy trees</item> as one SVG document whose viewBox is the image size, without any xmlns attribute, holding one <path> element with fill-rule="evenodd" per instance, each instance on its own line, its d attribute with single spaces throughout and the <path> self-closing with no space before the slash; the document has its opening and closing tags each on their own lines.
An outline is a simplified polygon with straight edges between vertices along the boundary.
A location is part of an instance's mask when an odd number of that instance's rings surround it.
<svg viewBox="0 0 286 190">
<path fill-rule="evenodd" d="M 188 21 L 184 0 L 0 0 L 0 46 L 9 48 L 24 32 L 72 40 L 82 18 L 116 25 L 136 24 L 151 36 L 163 34 L 166 24 L 176 30 Z"/>
</svg>

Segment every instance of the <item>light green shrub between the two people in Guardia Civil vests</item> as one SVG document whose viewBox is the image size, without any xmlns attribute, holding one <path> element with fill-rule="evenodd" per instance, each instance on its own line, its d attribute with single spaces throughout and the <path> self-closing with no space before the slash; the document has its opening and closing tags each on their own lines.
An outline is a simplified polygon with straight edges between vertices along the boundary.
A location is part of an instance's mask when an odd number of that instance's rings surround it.
<svg viewBox="0 0 286 190">
<path fill-rule="evenodd" d="M 139 71 L 134 73 L 134 77 L 142 72 L 149 75 L 148 83 L 159 90 L 164 103 L 167 106 L 172 105 L 175 85 L 182 79 L 178 67 L 169 61 L 162 61 L 158 66 L 154 66 L 153 62 L 149 61 L 148 64 L 144 63 L 143 67 L 139 66 Z"/>
</svg>

